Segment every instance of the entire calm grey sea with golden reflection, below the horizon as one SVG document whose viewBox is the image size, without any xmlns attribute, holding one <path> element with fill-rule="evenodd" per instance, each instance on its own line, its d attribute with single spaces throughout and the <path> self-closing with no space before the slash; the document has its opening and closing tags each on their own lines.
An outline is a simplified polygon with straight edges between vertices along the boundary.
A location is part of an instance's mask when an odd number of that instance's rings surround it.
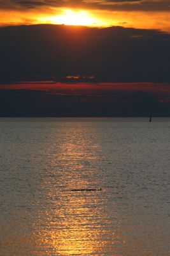
<svg viewBox="0 0 170 256">
<path fill-rule="evenodd" d="M 0 118 L 0 255 L 170 255 L 170 118 Z"/>
</svg>

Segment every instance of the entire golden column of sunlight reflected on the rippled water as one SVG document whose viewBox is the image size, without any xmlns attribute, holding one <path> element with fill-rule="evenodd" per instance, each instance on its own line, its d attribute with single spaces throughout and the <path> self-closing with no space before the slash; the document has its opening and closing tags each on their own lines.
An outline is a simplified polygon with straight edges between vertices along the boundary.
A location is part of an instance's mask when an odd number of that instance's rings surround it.
<svg viewBox="0 0 170 256">
<path fill-rule="evenodd" d="M 96 134 L 85 131 L 85 125 L 83 131 L 79 125 L 69 129 L 72 135 L 69 136 L 66 129 L 60 141 L 53 140 L 48 151 L 52 177 L 43 184 L 48 187 L 49 207 L 46 212 L 39 212 L 39 225 L 45 220 L 46 226 L 39 229 L 39 243 L 46 244 L 48 252 L 50 244 L 51 253 L 57 255 L 92 255 L 103 252 L 104 247 L 113 247 L 111 243 L 114 243 L 102 192 L 71 191 L 101 188 L 101 180 L 97 178 L 101 171 L 96 164 L 101 162 L 101 146 L 89 138 Z M 104 225 L 108 225 L 108 230 Z M 109 233 L 111 241 L 104 240 Z"/>
</svg>

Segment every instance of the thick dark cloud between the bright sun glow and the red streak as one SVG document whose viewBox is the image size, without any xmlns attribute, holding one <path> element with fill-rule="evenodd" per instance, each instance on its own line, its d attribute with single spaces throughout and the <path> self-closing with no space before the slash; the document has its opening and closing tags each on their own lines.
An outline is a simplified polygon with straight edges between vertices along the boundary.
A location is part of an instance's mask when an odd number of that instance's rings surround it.
<svg viewBox="0 0 170 256">
<path fill-rule="evenodd" d="M 96 77 L 170 82 L 170 35 L 122 27 L 56 25 L 0 29 L 0 82 Z"/>
</svg>

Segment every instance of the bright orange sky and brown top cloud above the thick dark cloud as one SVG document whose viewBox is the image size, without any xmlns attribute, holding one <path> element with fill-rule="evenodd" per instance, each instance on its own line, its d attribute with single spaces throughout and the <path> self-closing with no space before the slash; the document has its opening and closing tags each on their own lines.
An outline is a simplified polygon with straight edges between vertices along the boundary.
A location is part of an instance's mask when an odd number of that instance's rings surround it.
<svg viewBox="0 0 170 256">
<path fill-rule="evenodd" d="M 0 26 L 68 24 L 170 32 L 169 0 L 0 0 Z"/>
</svg>

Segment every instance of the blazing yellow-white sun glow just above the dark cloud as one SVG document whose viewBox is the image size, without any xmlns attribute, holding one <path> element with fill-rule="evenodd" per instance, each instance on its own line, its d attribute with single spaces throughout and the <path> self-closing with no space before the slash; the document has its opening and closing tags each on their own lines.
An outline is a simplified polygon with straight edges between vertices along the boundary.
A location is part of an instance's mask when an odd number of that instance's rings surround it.
<svg viewBox="0 0 170 256">
<path fill-rule="evenodd" d="M 48 18 L 52 24 L 64 24 L 73 26 L 100 26 L 99 20 L 92 17 L 87 11 L 64 10 L 62 15 Z"/>
</svg>

